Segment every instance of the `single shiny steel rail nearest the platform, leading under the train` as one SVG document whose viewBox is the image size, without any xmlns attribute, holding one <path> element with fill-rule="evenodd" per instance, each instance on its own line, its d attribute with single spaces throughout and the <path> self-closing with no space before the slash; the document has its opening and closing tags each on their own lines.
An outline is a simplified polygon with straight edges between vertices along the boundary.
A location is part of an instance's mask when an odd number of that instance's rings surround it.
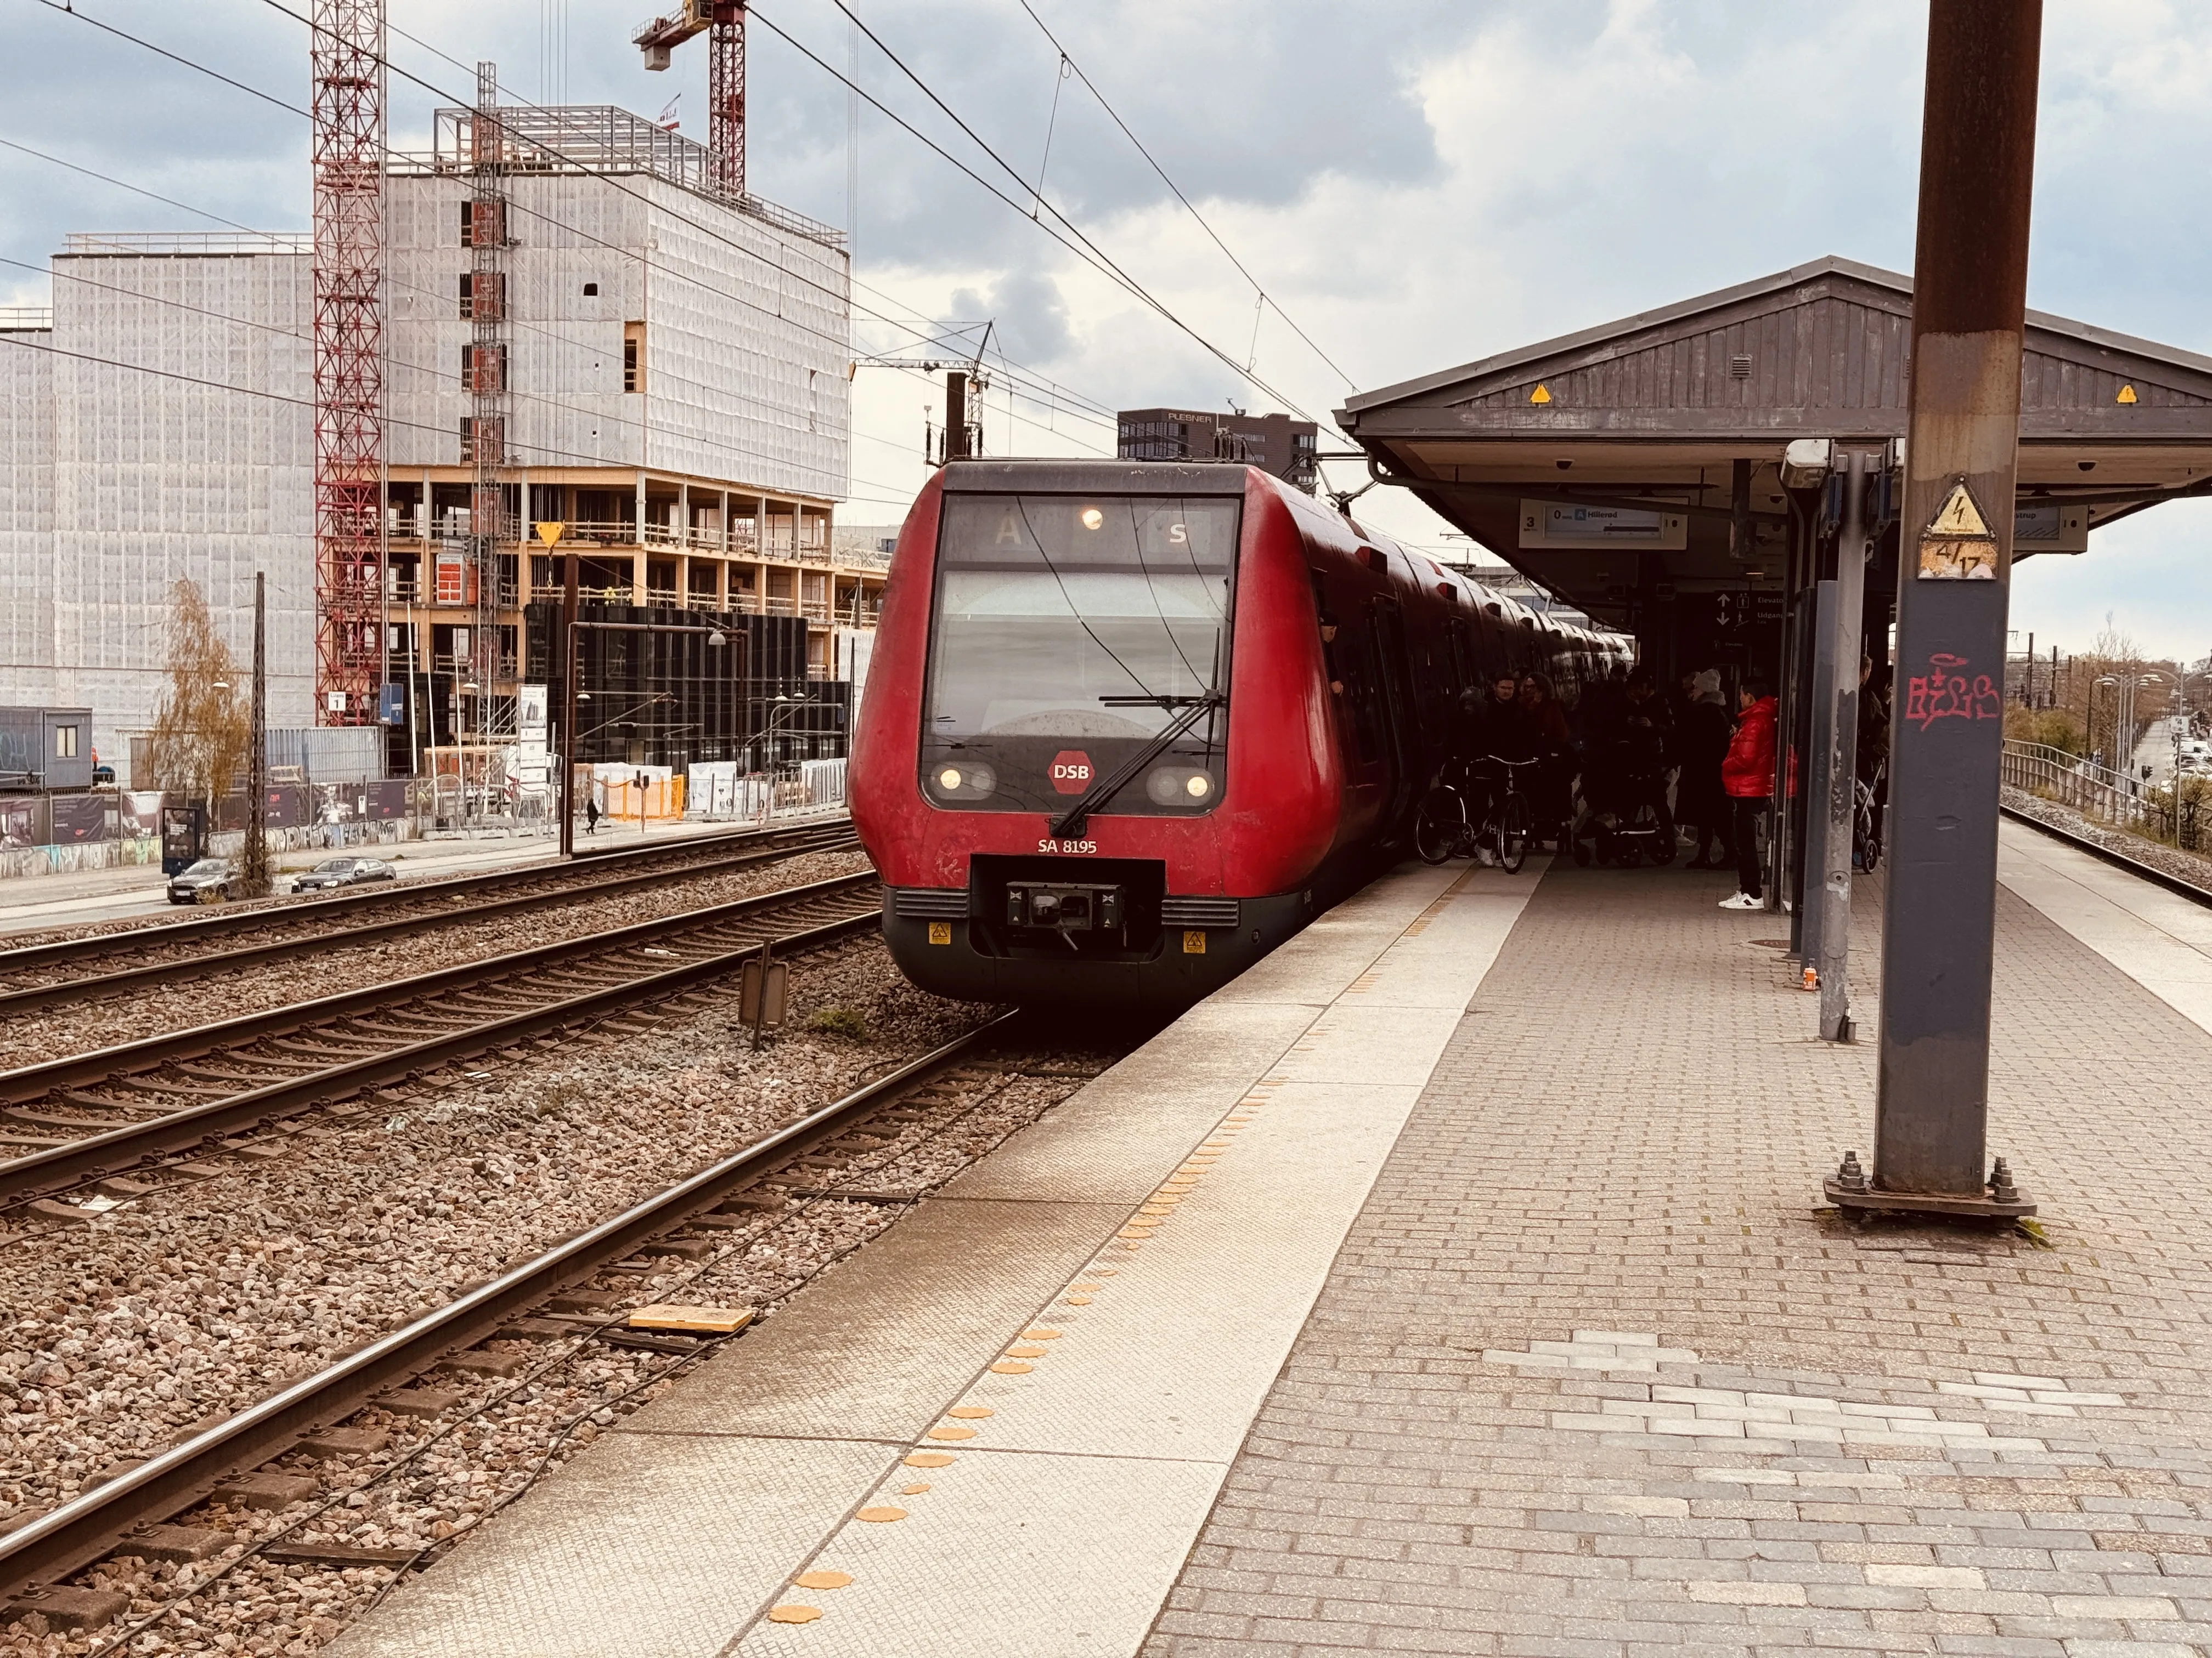
<svg viewBox="0 0 2212 1658">
<path fill-rule="evenodd" d="M 1020 1015 L 1006 1012 L 889 1077 L 880 1077 L 796 1123 L 710 1163 L 697 1174 L 630 1205 L 622 1214 L 555 1242 L 544 1253 L 469 1289 L 445 1307 L 343 1353 L 314 1375 L 285 1384 L 206 1433 L 153 1461 L 73 1497 L 49 1514 L 0 1534 L 0 1598 L 33 1583 L 58 1583 L 117 1552 L 128 1532 L 164 1521 L 208 1497 L 223 1479 L 283 1455 L 301 1435 L 343 1421 L 376 1397 L 429 1371 L 445 1355 L 473 1346 L 518 1313 L 557 1295 L 602 1267 L 624 1260 L 646 1240 L 672 1231 L 770 1165 L 841 1134 L 854 1116 L 880 1108 L 984 1046 Z"/>
</svg>

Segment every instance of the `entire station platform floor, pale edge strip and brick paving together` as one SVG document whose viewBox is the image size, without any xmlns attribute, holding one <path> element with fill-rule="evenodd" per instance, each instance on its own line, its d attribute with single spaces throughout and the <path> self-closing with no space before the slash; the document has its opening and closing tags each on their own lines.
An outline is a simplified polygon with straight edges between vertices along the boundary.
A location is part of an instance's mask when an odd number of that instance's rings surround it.
<svg viewBox="0 0 2212 1658">
<path fill-rule="evenodd" d="M 334 1651 L 2212 1654 L 2212 928 L 2004 833 L 2051 1249 L 1816 1211 L 1874 1050 L 1725 878 L 1409 869 Z"/>
</svg>

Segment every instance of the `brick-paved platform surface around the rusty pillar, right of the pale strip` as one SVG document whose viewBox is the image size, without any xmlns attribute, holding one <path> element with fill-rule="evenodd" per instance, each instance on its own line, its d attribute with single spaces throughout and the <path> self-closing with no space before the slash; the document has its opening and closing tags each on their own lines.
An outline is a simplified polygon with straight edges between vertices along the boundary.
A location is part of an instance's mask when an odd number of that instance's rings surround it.
<svg viewBox="0 0 2212 1658">
<path fill-rule="evenodd" d="M 2212 1654 L 2203 911 L 2004 869 L 1991 1136 L 2051 1247 L 1816 1214 L 1874 1048 L 1776 917 L 1553 869 L 1146 1658 Z"/>
</svg>

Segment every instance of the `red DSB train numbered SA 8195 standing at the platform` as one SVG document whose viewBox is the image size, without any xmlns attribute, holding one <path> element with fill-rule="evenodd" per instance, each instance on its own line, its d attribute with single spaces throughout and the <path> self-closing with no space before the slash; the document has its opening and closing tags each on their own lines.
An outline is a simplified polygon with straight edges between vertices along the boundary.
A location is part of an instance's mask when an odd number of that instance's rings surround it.
<svg viewBox="0 0 2212 1658">
<path fill-rule="evenodd" d="M 854 738 L 883 935 L 938 995 L 1194 1001 L 1402 844 L 1462 688 L 1624 659 L 1252 466 L 949 462 Z"/>
</svg>

